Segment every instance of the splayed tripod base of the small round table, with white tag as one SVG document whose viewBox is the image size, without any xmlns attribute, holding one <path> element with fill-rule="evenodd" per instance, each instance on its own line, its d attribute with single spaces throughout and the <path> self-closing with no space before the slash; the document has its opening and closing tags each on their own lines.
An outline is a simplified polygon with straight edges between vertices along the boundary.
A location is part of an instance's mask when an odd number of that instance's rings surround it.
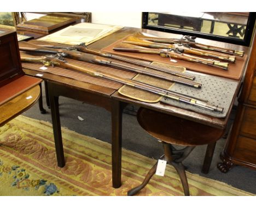
<svg viewBox="0 0 256 208">
<path fill-rule="evenodd" d="M 181 150 L 176 150 L 173 148 L 171 144 L 162 142 L 164 146 L 164 158 L 167 161 L 167 164 L 171 164 L 177 171 L 179 178 L 181 179 L 183 190 L 184 190 L 184 195 L 189 195 L 189 186 L 188 186 L 188 180 L 187 180 L 187 175 L 185 173 L 185 168 L 182 164 L 182 161 L 185 160 L 185 158 L 188 157 L 190 152 L 195 148 L 194 146 L 187 146 L 186 148 L 183 148 Z M 163 156 L 162 156 L 163 157 Z M 161 157 L 161 158 L 162 158 Z M 141 185 L 132 188 L 130 191 L 128 191 L 127 195 L 135 195 L 139 191 L 141 191 L 142 188 L 144 188 L 149 180 L 152 178 L 152 176 L 156 172 L 156 167 L 157 167 L 158 162 L 154 164 L 154 166 L 149 170 L 148 174 L 146 175 L 146 178 L 144 181 L 141 183 Z"/>
</svg>

